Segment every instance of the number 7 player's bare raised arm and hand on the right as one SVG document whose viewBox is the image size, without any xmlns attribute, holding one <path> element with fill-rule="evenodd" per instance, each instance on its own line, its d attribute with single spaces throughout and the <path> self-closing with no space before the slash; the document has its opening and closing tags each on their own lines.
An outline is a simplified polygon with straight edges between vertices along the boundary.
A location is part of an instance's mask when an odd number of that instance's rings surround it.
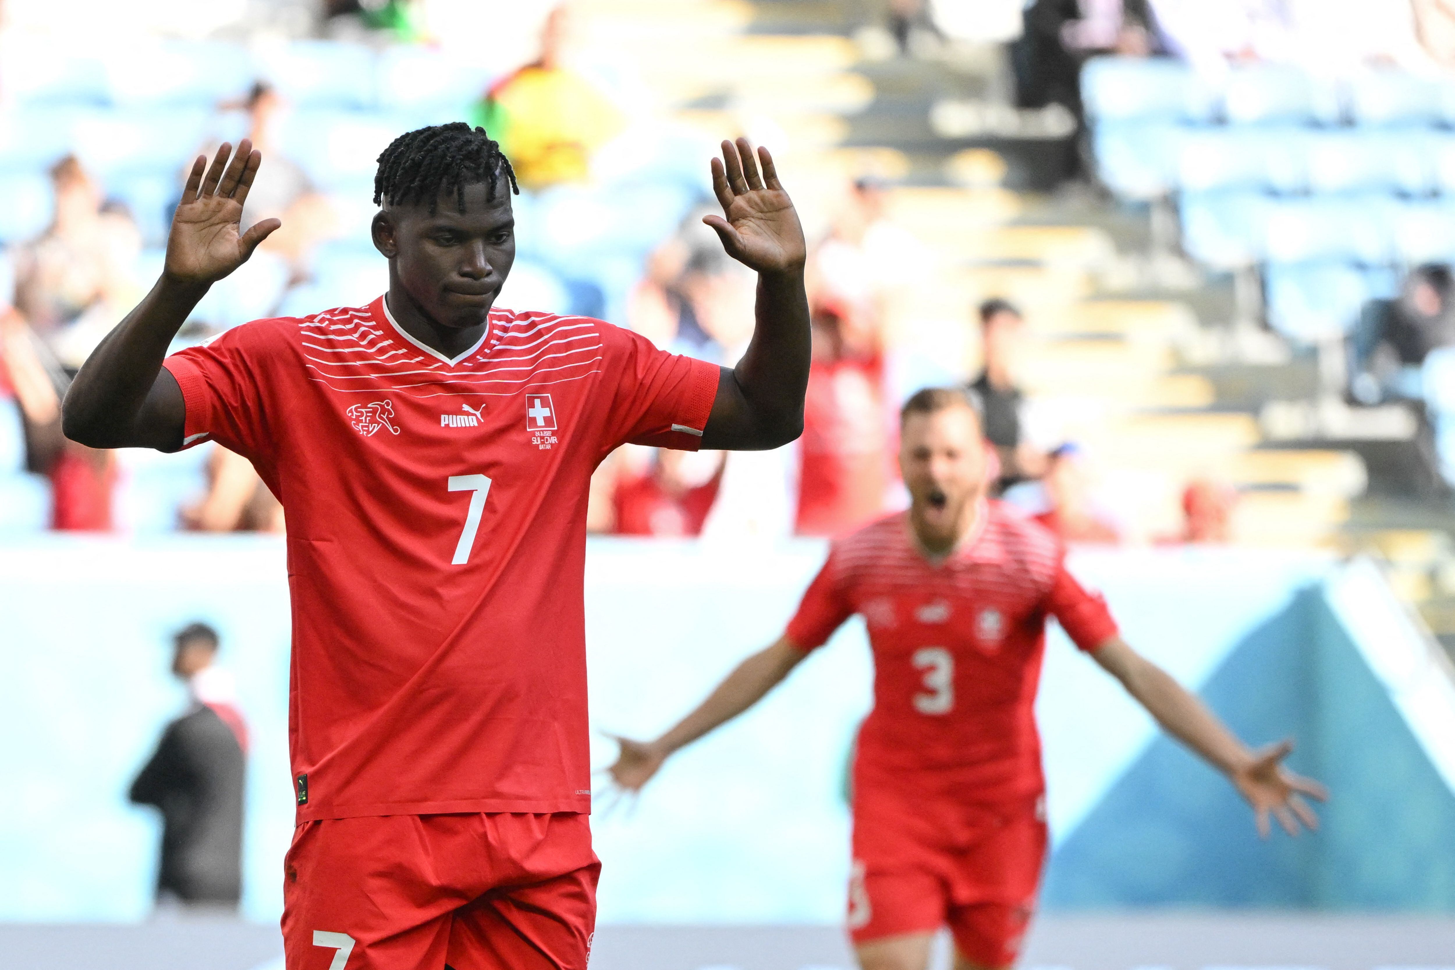
<svg viewBox="0 0 1455 970">
<path fill-rule="evenodd" d="M 755 159 L 746 138 L 725 141 L 722 148 L 722 160 L 713 159 L 713 192 L 723 215 L 703 221 L 717 230 L 729 256 L 758 272 L 758 302 L 746 353 L 738 366 L 723 368 L 717 381 L 703 448 L 777 448 L 803 432 L 808 247 L 768 150 L 760 147 Z"/>
</svg>

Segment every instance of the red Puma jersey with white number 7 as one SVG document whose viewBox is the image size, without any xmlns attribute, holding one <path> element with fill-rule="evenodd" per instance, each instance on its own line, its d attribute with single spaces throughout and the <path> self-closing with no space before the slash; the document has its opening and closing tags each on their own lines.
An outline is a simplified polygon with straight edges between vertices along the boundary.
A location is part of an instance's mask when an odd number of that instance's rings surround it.
<svg viewBox="0 0 1455 970">
<path fill-rule="evenodd" d="M 282 502 L 298 820 L 588 811 L 586 492 L 623 442 L 695 449 L 719 368 L 495 310 L 454 359 L 383 297 L 172 355 L 185 444 Z"/>
</svg>

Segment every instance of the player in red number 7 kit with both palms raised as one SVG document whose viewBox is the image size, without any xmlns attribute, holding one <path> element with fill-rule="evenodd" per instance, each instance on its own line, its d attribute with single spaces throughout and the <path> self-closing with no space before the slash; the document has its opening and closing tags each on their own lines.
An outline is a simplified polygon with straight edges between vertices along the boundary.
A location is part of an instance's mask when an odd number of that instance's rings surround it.
<svg viewBox="0 0 1455 970">
<path fill-rule="evenodd" d="M 725 141 L 723 215 L 758 270 L 736 368 L 585 317 L 495 308 L 515 256 L 509 161 L 463 124 L 381 156 L 388 292 L 258 320 L 166 356 L 242 231 L 260 164 L 192 167 L 162 278 L 81 368 L 65 433 L 246 455 L 282 502 L 297 829 L 288 970 L 585 970 L 599 862 L 582 572 L 592 470 L 623 442 L 774 448 L 802 428 L 805 243 L 773 159 Z M 760 167 L 761 166 L 761 167 Z"/>
</svg>

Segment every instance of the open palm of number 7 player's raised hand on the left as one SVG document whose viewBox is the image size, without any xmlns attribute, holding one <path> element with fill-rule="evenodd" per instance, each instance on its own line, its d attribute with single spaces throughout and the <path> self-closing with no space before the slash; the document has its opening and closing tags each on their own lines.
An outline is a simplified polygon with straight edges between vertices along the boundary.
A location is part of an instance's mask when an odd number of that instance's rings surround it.
<svg viewBox="0 0 1455 970">
<path fill-rule="evenodd" d="M 205 156 L 192 163 L 167 237 L 166 273 L 172 279 L 214 284 L 242 266 L 258 244 L 282 225 L 278 220 L 263 220 L 242 231 L 243 202 L 262 154 L 244 138 L 228 161 L 231 148 L 223 143 L 211 166 Z"/>
</svg>

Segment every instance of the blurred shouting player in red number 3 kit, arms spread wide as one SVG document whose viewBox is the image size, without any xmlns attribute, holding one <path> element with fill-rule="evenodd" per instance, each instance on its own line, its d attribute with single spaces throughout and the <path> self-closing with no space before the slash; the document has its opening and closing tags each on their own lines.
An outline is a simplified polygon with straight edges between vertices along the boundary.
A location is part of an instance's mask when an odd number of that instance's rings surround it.
<svg viewBox="0 0 1455 970">
<path fill-rule="evenodd" d="M 738 666 L 650 743 L 621 739 L 617 784 L 640 788 L 677 749 L 755 704 L 853 614 L 869 628 L 874 707 L 858 731 L 848 929 L 864 970 L 924 970 L 949 925 L 959 970 L 1016 961 L 1046 854 L 1033 702 L 1046 618 L 1163 727 L 1222 769 L 1291 833 L 1320 785 L 1280 766 L 1291 746 L 1244 747 L 1203 704 L 1117 636 L 1100 596 L 1067 572 L 1061 541 L 986 502 L 979 416 L 959 390 L 904 407 L 908 512 L 832 544 L 783 637 Z"/>
</svg>

